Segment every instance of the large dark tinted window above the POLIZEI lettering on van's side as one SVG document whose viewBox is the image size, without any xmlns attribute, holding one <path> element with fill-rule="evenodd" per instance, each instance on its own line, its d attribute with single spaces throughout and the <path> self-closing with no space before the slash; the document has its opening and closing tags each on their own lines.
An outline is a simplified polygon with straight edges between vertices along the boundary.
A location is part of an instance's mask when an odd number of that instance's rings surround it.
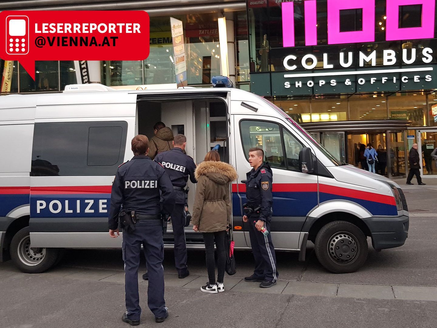
<svg viewBox="0 0 437 328">
<path fill-rule="evenodd" d="M 31 176 L 114 175 L 123 163 L 127 123 L 35 123 Z"/>
</svg>

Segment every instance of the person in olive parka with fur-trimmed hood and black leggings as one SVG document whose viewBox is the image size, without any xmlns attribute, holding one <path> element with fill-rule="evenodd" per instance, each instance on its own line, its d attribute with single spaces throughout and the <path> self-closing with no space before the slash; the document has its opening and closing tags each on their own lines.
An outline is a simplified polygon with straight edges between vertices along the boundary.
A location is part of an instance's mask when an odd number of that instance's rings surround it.
<svg viewBox="0 0 437 328">
<path fill-rule="evenodd" d="M 221 162 L 217 151 L 206 154 L 205 161 L 196 168 L 198 181 L 193 206 L 193 230 L 203 235 L 205 242 L 208 283 L 201 286 L 205 293 L 225 291 L 224 276 L 226 265 L 225 239 L 231 224 L 230 184 L 237 179 L 232 165 Z M 214 242 L 217 248 L 217 280 L 215 279 Z"/>
</svg>

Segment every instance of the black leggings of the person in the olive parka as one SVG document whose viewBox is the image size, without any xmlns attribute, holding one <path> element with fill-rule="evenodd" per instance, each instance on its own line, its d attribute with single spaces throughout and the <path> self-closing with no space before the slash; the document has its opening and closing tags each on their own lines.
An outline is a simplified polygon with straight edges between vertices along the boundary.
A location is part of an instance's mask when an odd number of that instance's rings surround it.
<svg viewBox="0 0 437 328">
<path fill-rule="evenodd" d="M 225 253 L 225 237 L 226 231 L 218 232 L 203 232 L 203 240 L 205 242 L 206 254 L 206 269 L 208 270 L 209 284 L 215 284 L 215 258 L 214 258 L 214 241 L 217 248 L 217 282 L 223 283 L 225 276 L 226 253 Z"/>
</svg>

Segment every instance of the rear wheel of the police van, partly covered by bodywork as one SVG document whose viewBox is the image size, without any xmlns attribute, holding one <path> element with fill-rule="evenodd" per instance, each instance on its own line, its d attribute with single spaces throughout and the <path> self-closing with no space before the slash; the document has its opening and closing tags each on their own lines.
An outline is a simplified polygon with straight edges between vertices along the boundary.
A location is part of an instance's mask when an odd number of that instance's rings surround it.
<svg viewBox="0 0 437 328">
<path fill-rule="evenodd" d="M 31 248 L 29 227 L 18 231 L 10 243 L 10 257 L 24 273 L 41 273 L 55 265 L 59 248 Z"/>
</svg>

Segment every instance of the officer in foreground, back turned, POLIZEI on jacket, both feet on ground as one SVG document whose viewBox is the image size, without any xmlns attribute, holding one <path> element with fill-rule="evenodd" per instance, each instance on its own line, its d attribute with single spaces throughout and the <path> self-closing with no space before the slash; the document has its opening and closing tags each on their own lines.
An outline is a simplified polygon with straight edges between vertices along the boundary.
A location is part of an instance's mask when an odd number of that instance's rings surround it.
<svg viewBox="0 0 437 328">
<path fill-rule="evenodd" d="M 164 168 L 147 156 L 149 140 L 146 136 L 138 135 L 132 139 L 132 151 L 135 156 L 131 161 L 121 164 L 112 185 L 109 234 L 113 238 L 119 235 L 118 215 L 122 206 L 120 216 L 122 213 L 128 213 L 135 223 L 123 230 L 126 312 L 122 316 L 122 321 L 130 325 L 139 325 L 141 307 L 138 295 L 138 266 L 141 244 L 149 270 L 149 309 L 155 315 L 156 322 L 163 322 L 168 316 L 164 300 L 161 213 L 171 213 L 175 192 Z M 120 220 L 123 220 L 122 217 Z"/>
</svg>

